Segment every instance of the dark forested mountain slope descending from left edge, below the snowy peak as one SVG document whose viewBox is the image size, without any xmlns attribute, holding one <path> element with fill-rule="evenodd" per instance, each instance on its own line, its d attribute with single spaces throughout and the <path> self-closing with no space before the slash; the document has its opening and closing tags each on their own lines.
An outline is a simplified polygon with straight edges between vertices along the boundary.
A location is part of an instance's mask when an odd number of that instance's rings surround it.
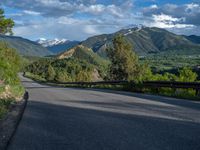
<svg viewBox="0 0 200 150">
<path fill-rule="evenodd" d="M 23 56 L 47 56 L 52 54 L 40 44 L 21 37 L 0 35 L 0 41 L 8 43 L 9 46 L 16 49 Z"/>
</svg>

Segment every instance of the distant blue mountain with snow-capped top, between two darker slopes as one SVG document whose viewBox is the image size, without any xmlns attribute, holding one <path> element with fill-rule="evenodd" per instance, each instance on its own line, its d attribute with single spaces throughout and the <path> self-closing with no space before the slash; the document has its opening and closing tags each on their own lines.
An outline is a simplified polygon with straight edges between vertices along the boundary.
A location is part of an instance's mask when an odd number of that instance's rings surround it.
<svg viewBox="0 0 200 150">
<path fill-rule="evenodd" d="M 40 38 L 36 42 L 46 47 L 49 51 L 51 51 L 54 54 L 59 54 L 60 52 L 68 50 L 80 43 L 79 41 L 70 41 L 67 39 L 57 39 L 57 38 L 53 40 Z"/>
</svg>

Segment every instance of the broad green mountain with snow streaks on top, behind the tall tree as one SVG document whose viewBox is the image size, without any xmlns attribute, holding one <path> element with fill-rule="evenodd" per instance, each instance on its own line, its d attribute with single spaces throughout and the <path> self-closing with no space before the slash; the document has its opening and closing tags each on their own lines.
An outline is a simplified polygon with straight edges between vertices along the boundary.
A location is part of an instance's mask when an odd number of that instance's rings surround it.
<svg viewBox="0 0 200 150">
<path fill-rule="evenodd" d="M 124 28 L 113 34 L 93 36 L 81 44 L 105 57 L 106 48 L 112 46 L 112 40 L 117 34 L 124 35 L 139 55 L 152 53 L 200 54 L 200 46 L 184 36 L 176 35 L 165 29 L 145 26 Z"/>
</svg>

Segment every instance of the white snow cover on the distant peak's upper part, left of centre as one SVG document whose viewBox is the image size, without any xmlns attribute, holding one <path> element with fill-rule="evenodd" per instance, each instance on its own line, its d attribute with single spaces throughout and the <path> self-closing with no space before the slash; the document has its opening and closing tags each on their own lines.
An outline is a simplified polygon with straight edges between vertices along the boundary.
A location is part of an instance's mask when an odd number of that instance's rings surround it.
<svg viewBox="0 0 200 150">
<path fill-rule="evenodd" d="M 45 39 L 45 38 L 40 38 L 36 42 L 41 44 L 44 47 L 51 47 L 51 46 L 63 44 L 63 43 L 68 42 L 68 41 L 69 40 L 67 40 L 67 39 L 57 39 L 57 38 L 55 38 L 53 40 L 49 40 L 49 39 Z"/>
</svg>

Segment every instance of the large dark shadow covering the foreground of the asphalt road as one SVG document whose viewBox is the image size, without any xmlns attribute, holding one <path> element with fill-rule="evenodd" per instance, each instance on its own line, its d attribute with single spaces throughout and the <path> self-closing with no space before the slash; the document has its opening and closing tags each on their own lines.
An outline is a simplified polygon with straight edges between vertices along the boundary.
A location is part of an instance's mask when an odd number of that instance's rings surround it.
<svg viewBox="0 0 200 150">
<path fill-rule="evenodd" d="M 199 150 L 200 124 L 30 101 L 8 149 Z"/>
</svg>

